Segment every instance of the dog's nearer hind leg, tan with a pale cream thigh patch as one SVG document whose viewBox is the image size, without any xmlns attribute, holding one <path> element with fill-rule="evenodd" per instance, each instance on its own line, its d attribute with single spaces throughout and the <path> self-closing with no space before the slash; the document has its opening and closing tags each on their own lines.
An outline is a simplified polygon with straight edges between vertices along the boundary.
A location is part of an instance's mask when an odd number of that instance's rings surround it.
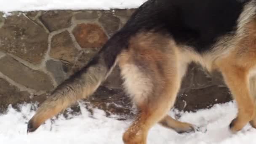
<svg viewBox="0 0 256 144">
<path fill-rule="evenodd" d="M 181 84 L 176 46 L 168 37 L 146 33 L 135 37 L 120 55 L 126 91 L 139 114 L 123 135 L 125 144 L 146 144 L 149 129 L 166 116 Z"/>
</svg>

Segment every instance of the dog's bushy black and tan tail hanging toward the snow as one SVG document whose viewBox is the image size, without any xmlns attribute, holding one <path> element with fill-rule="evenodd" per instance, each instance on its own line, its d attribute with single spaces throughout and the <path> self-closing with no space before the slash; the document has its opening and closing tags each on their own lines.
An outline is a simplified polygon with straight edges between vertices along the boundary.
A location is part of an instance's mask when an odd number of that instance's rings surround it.
<svg viewBox="0 0 256 144">
<path fill-rule="evenodd" d="M 125 40 L 123 35 L 115 34 L 83 69 L 61 83 L 29 120 L 27 132 L 35 131 L 45 120 L 96 91 L 115 67 L 118 54 L 125 48 L 126 42 L 122 43 L 122 40 Z"/>
</svg>

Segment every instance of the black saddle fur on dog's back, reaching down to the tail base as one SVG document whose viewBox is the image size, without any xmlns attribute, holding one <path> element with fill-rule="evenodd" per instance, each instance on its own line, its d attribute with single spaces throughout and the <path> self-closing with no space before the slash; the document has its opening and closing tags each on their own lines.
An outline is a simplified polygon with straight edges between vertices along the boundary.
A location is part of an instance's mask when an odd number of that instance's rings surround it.
<svg viewBox="0 0 256 144">
<path fill-rule="evenodd" d="M 148 0 L 125 26 L 106 43 L 102 51 L 110 68 L 116 56 L 128 47 L 130 37 L 154 30 L 169 34 L 178 45 L 199 53 L 208 51 L 222 35 L 232 34 L 243 5 L 251 0 Z"/>
</svg>

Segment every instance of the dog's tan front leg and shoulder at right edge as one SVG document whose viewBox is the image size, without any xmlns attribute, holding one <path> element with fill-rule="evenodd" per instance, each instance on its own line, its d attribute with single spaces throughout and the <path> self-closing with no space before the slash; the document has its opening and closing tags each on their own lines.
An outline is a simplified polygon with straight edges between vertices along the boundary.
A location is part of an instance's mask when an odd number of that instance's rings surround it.
<svg viewBox="0 0 256 144">
<path fill-rule="evenodd" d="M 233 132 L 241 130 L 254 117 L 254 101 L 250 92 L 250 71 L 256 65 L 256 19 L 245 25 L 244 37 L 230 53 L 216 61 L 238 106 L 237 118 L 231 124 Z"/>
</svg>

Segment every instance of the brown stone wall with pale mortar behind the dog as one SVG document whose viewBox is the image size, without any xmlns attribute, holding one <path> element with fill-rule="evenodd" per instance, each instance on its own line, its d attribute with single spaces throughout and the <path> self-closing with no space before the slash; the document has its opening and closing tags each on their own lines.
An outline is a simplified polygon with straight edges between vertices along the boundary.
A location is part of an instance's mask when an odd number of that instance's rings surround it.
<svg viewBox="0 0 256 144">
<path fill-rule="evenodd" d="M 6 18 L 0 13 L 0 106 L 42 102 L 47 93 L 87 64 L 133 11 L 13 12 Z M 87 102 L 107 112 L 131 113 L 121 83 L 115 68 Z M 221 77 L 211 78 L 191 64 L 176 108 L 193 111 L 229 100 Z"/>
</svg>

